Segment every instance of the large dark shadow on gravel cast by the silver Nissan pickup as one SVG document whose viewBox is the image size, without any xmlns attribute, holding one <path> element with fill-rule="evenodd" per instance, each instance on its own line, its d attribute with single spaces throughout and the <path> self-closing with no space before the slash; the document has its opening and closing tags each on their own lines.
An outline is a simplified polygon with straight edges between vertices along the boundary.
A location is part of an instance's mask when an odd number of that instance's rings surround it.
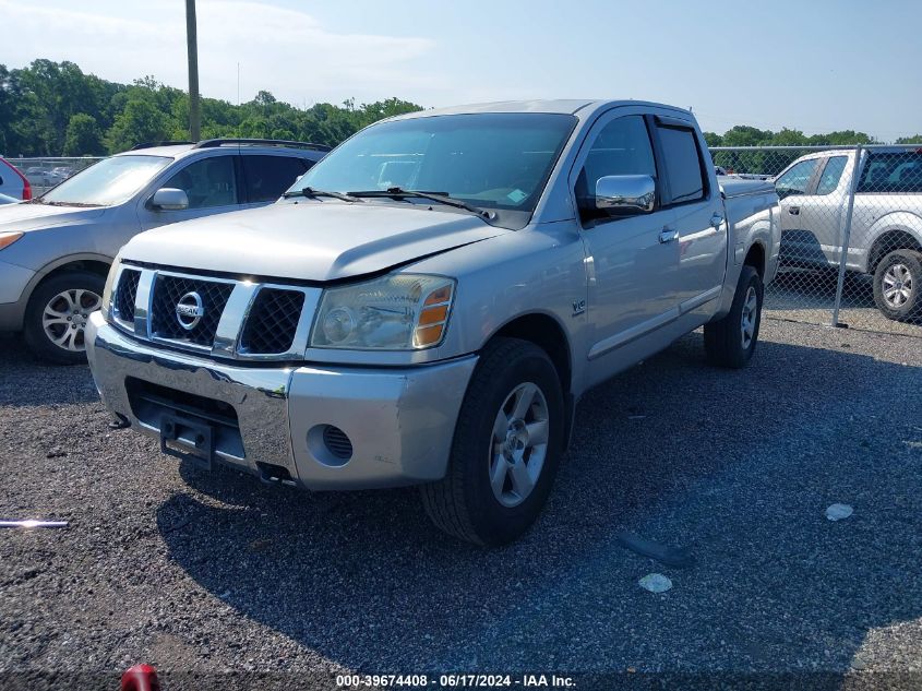
<svg viewBox="0 0 922 691">
<path fill-rule="evenodd" d="M 922 615 L 922 433 L 879 395 L 918 376 L 767 342 L 745 372 L 718 370 L 692 334 L 583 400 L 547 510 L 500 549 L 439 534 L 412 490 L 277 491 L 191 466 L 209 498 L 173 496 L 158 525 L 208 592 L 349 668 L 841 674 L 869 630 Z M 854 515 L 828 521 L 837 501 Z M 695 564 L 625 550 L 624 528 Z M 638 587 L 652 571 L 672 591 Z"/>
</svg>

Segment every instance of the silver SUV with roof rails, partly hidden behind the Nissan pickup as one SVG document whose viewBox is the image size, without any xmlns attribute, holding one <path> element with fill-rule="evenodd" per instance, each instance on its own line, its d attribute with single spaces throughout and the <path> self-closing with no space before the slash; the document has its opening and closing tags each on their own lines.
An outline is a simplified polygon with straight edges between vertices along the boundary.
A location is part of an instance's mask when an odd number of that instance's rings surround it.
<svg viewBox="0 0 922 691">
<path fill-rule="evenodd" d="M 28 204 L 0 210 L 0 331 L 35 354 L 85 359 L 83 327 L 112 258 L 165 224 L 268 204 L 328 150 L 271 140 L 143 145 L 106 158 Z"/>
</svg>

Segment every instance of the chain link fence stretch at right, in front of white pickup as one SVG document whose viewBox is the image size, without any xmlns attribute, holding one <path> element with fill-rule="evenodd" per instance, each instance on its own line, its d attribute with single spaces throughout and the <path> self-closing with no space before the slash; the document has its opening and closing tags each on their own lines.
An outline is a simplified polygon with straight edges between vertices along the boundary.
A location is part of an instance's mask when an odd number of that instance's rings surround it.
<svg viewBox="0 0 922 691">
<path fill-rule="evenodd" d="M 711 148 L 715 166 L 769 178 L 781 258 L 766 317 L 922 337 L 922 148 Z"/>
</svg>

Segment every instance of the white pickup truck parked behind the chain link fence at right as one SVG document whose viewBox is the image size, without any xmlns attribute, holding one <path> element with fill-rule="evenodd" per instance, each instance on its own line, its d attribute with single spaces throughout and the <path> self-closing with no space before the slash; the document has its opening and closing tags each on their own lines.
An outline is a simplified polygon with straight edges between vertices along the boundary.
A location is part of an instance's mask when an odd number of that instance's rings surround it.
<svg viewBox="0 0 922 691">
<path fill-rule="evenodd" d="M 781 198 L 781 261 L 836 266 L 841 258 L 854 151 L 803 156 L 775 180 Z M 889 319 L 922 318 L 922 150 L 863 150 L 846 267 L 873 276 Z"/>
</svg>

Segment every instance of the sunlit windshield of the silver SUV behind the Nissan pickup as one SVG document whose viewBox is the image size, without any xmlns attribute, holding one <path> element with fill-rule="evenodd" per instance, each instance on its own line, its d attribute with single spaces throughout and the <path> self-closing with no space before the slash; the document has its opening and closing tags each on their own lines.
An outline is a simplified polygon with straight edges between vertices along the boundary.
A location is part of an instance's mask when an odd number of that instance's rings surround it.
<svg viewBox="0 0 922 691">
<path fill-rule="evenodd" d="M 130 199 L 172 163 L 164 156 L 112 156 L 68 178 L 39 201 L 56 204 L 111 206 Z"/>
</svg>

